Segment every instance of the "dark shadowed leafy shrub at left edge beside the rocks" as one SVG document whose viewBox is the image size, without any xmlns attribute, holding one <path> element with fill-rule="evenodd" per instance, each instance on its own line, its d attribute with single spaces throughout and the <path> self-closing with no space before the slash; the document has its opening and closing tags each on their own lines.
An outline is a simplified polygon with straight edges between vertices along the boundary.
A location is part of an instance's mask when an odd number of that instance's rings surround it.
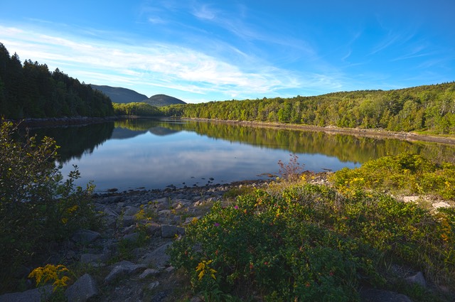
<svg viewBox="0 0 455 302">
<path fill-rule="evenodd" d="M 14 282 L 12 272 L 42 255 L 50 242 L 69 238 L 79 228 L 99 227 L 91 201 L 92 185 L 74 187 L 77 167 L 68 179 L 55 168 L 57 146 L 50 138 L 12 139 L 16 129 L 0 129 L 0 291 Z M 5 286 L 5 288 L 3 288 Z"/>
</svg>

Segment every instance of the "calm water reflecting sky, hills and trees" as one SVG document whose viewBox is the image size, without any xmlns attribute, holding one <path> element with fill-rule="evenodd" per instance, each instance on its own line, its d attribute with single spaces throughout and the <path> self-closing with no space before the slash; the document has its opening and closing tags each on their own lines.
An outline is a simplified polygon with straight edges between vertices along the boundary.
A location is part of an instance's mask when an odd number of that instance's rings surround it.
<svg viewBox="0 0 455 302">
<path fill-rule="evenodd" d="M 34 129 L 60 148 L 63 175 L 79 167 L 77 185 L 97 190 L 203 186 L 278 175 L 277 162 L 299 156 L 305 170 L 337 171 L 402 151 L 455 157 L 453 146 L 412 144 L 312 131 L 264 129 L 172 119 L 137 119 L 90 126 Z M 213 178 L 213 180 L 210 180 Z"/>
</svg>

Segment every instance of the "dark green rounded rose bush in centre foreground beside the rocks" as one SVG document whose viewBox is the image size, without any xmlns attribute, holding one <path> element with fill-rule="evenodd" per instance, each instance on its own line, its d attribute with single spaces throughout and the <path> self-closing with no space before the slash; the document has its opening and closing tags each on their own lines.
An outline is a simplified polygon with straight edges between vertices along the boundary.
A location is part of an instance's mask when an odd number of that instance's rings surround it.
<svg viewBox="0 0 455 302">
<path fill-rule="evenodd" d="M 309 193 L 309 192 L 308 192 Z M 302 203 L 263 191 L 215 204 L 173 244 L 171 261 L 196 291 L 265 301 L 358 301 L 360 282 L 380 283 L 375 252 L 303 219 Z M 201 264 L 213 274 L 200 274 Z M 212 271 L 213 270 L 213 271 Z"/>
</svg>

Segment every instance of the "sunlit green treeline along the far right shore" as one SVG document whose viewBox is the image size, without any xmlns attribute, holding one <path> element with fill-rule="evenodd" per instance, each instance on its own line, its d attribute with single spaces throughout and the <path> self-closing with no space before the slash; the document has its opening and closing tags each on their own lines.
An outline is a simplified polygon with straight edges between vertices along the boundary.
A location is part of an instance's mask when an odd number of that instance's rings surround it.
<svg viewBox="0 0 455 302">
<path fill-rule="evenodd" d="M 168 116 L 455 134 L 455 82 L 402 90 L 334 92 L 173 105 Z"/>
</svg>

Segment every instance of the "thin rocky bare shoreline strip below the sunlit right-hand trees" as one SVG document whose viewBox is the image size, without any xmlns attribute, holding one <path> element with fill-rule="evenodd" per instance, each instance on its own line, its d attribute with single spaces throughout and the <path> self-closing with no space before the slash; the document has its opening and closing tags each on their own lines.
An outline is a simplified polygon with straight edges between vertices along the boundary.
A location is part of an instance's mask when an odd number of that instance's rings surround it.
<svg viewBox="0 0 455 302">
<path fill-rule="evenodd" d="M 381 139 L 400 139 L 403 141 L 426 141 L 430 143 L 455 145 L 455 136 L 437 136 L 429 134 L 417 134 L 415 132 L 398 132 L 384 129 L 359 129 L 359 128 L 340 128 L 337 126 L 311 126 L 303 124 L 282 124 L 271 122 L 251 122 L 233 121 L 224 119 L 201 119 L 182 117 L 191 121 L 218 122 L 225 124 L 237 124 L 240 126 L 264 127 L 273 129 L 291 129 L 301 131 L 325 132 L 327 134 L 346 134 L 352 136 L 363 136 Z"/>
</svg>

